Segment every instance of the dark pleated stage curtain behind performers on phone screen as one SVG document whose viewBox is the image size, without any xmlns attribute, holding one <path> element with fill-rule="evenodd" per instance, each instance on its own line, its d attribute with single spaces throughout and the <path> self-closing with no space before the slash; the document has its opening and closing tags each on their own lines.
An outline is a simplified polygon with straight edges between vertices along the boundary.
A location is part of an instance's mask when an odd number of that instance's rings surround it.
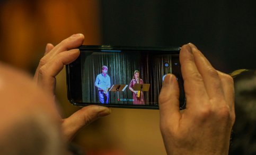
<svg viewBox="0 0 256 155">
<path fill-rule="evenodd" d="M 94 52 L 82 57 L 82 92 L 83 102 L 99 103 L 98 89 L 94 86 L 96 76 L 100 73 L 102 65 L 108 66 L 108 75 L 110 76 L 111 86 L 113 84 L 127 84 L 125 91 L 119 92 L 120 99 L 133 99 L 129 90 L 129 84 L 133 79 L 135 70 L 139 70 L 140 78 L 144 83 L 151 84 L 148 92 L 144 92 L 145 104 L 155 105 L 158 101 L 158 95 L 162 87 L 162 78 L 164 74 L 171 73 L 171 55 L 149 55 L 148 53 L 101 53 Z M 168 62 L 169 67 L 164 67 Z M 133 104 L 133 102 L 117 101 L 117 92 L 110 92 L 109 104 Z"/>
</svg>

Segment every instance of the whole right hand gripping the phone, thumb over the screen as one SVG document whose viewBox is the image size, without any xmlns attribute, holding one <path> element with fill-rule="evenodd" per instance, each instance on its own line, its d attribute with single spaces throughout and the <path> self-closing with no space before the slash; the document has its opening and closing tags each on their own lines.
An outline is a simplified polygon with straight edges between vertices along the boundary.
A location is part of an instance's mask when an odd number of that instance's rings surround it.
<svg viewBox="0 0 256 155">
<path fill-rule="evenodd" d="M 166 75 L 159 96 L 160 128 L 168 154 L 228 154 L 235 121 L 231 76 L 216 71 L 193 44 L 180 51 L 186 109 L 179 110 L 179 86 Z"/>
</svg>

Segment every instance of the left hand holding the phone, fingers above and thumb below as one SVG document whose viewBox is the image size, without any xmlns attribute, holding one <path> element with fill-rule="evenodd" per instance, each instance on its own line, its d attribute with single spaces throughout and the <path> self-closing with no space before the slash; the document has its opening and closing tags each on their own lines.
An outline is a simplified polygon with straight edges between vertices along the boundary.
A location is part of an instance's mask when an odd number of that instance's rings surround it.
<svg viewBox="0 0 256 155">
<path fill-rule="evenodd" d="M 55 76 L 63 69 L 64 65 L 77 59 L 80 51 L 74 48 L 82 45 L 83 40 L 83 34 L 74 34 L 56 46 L 52 44 L 46 45 L 45 56 L 40 60 L 36 74 L 34 75 L 34 81 L 43 90 L 50 93 L 52 99 L 49 100 L 55 100 Z M 61 121 L 65 140 L 72 140 L 76 132 L 82 127 L 110 113 L 111 110 L 109 108 L 97 105 L 85 106 L 76 111 L 70 117 Z"/>
</svg>

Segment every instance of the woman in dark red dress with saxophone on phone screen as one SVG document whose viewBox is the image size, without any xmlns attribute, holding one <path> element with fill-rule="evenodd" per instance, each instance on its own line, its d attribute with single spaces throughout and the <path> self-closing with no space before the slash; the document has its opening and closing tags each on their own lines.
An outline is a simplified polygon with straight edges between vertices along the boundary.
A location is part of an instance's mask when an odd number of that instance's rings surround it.
<svg viewBox="0 0 256 155">
<path fill-rule="evenodd" d="M 134 71 L 134 77 L 130 82 L 129 90 L 133 92 L 133 104 L 145 104 L 143 91 L 135 90 L 136 84 L 143 84 L 143 80 L 139 78 L 139 71 Z"/>
</svg>

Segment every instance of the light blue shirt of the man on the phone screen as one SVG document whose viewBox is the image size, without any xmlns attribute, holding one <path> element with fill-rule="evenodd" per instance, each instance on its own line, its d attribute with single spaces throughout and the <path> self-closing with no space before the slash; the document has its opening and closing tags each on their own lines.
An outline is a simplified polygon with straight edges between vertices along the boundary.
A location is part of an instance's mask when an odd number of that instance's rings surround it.
<svg viewBox="0 0 256 155">
<path fill-rule="evenodd" d="M 101 73 L 96 76 L 96 80 L 94 82 L 94 85 L 98 88 L 98 90 L 107 90 L 110 88 L 110 77 L 108 74 L 105 76 Z"/>
</svg>

